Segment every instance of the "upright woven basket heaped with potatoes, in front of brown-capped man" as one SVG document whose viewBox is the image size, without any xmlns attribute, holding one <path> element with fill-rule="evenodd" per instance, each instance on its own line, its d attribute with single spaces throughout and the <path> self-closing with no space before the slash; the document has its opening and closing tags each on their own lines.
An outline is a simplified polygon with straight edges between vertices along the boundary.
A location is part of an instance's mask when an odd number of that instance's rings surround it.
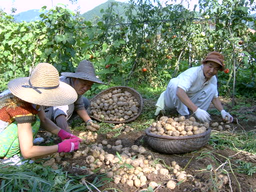
<svg viewBox="0 0 256 192">
<path fill-rule="evenodd" d="M 185 118 L 162 116 L 145 130 L 147 143 L 160 152 L 184 153 L 203 147 L 209 140 L 211 128 L 193 116 Z"/>
</svg>

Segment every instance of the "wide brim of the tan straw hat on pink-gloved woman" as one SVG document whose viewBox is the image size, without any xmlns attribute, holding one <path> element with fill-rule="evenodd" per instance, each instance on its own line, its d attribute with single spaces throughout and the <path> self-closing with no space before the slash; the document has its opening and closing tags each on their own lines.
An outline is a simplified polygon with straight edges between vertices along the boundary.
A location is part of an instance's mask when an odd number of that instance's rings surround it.
<svg viewBox="0 0 256 192">
<path fill-rule="evenodd" d="M 9 81 L 8 89 L 18 98 L 38 105 L 58 106 L 73 103 L 77 99 L 76 91 L 67 83 L 59 82 L 59 86 L 53 89 L 38 88 L 38 93 L 33 88 L 25 88 L 28 85 L 29 77 L 20 77 Z"/>
</svg>

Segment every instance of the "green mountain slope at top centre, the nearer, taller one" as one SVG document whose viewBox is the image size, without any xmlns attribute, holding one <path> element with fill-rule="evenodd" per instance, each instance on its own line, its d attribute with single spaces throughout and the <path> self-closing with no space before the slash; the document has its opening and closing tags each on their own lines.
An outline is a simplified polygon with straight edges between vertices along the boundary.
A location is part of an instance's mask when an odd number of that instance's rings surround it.
<svg viewBox="0 0 256 192">
<path fill-rule="evenodd" d="M 106 10 L 108 7 L 111 6 L 111 3 L 114 2 L 116 4 L 116 6 L 113 6 L 113 12 L 117 13 L 117 14 L 122 14 L 123 17 L 125 17 L 124 15 L 124 11 L 125 11 L 125 6 L 128 3 L 125 2 L 119 2 L 119 1 L 115 1 L 115 0 L 108 0 L 96 7 L 94 7 L 93 9 L 83 13 L 81 16 L 84 17 L 85 20 L 94 20 L 95 17 L 101 17 L 102 13 L 100 12 L 101 9 Z"/>
</svg>

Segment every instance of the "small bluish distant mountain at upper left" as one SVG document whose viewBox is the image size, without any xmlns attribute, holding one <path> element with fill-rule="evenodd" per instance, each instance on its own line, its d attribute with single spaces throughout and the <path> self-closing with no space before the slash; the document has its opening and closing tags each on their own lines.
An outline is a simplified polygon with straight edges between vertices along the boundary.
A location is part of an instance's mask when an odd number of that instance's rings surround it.
<svg viewBox="0 0 256 192">
<path fill-rule="evenodd" d="M 22 22 L 22 21 L 26 21 L 26 22 L 30 22 L 33 20 L 40 20 L 39 15 L 42 12 L 39 12 L 39 9 L 31 9 L 31 10 L 27 10 L 24 12 L 20 12 L 18 14 L 13 15 L 14 19 L 17 22 Z"/>
</svg>

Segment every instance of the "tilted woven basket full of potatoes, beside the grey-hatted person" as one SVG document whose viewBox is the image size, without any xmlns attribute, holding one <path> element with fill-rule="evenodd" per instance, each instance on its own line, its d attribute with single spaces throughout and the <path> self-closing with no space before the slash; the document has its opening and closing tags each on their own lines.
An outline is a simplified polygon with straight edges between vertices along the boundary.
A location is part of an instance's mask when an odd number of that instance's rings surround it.
<svg viewBox="0 0 256 192">
<path fill-rule="evenodd" d="M 126 123 L 137 118 L 143 108 L 141 95 L 128 86 L 113 86 L 90 100 L 90 117 L 108 123 Z"/>
</svg>

